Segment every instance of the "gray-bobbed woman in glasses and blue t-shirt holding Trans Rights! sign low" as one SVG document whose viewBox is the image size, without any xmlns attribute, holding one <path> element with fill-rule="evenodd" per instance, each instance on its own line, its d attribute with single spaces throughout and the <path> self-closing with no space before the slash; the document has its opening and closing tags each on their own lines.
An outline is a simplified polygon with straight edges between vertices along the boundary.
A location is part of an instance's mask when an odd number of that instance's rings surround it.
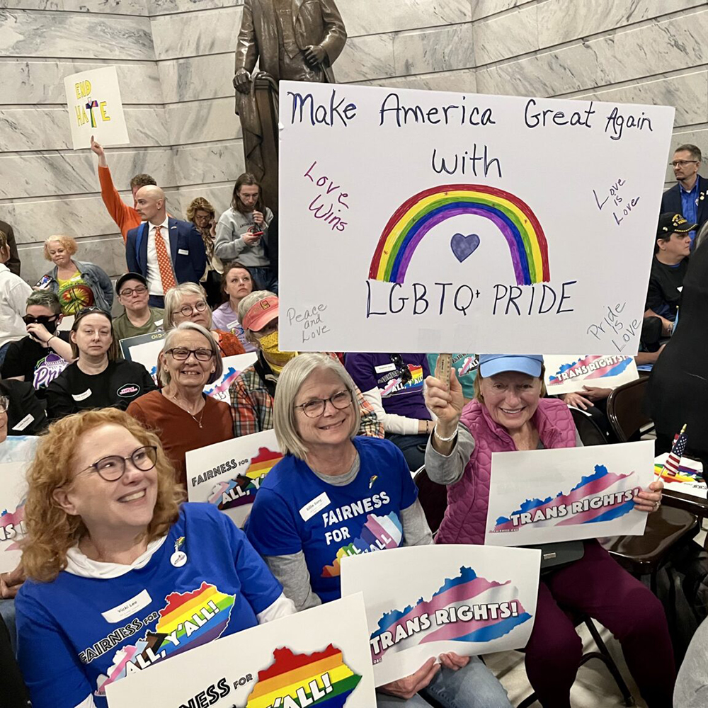
<svg viewBox="0 0 708 708">
<path fill-rule="evenodd" d="M 357 436 L 355 389 L 337 360 L 308 353 L 285 365 L 275 394 L 284 457 L 258 490 L 246 534 L 298 610 L 341 597 L 340 562 L 351 547 L 433 542 L 401 451 Z M 450 652 L 439 661 L 380 687 L 377 706 L 428 707 L 430 697 L 443 708 L 510 707 L 478 657 Z"/>
</svg>

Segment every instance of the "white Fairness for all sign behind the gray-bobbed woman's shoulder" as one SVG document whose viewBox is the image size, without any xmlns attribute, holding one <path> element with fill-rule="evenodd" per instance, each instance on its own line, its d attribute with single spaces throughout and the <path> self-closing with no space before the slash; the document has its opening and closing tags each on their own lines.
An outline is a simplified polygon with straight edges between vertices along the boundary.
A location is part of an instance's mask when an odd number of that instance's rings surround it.
<svg viewBox="0 0 708 708">
<path fill-rule="evenodd" d="M 189 501 L 214 504 L 237 526 L 244 525 L 265 475 L 282 459 L 275 430 L 215 442 L 185 457 Z"/>
</svg>

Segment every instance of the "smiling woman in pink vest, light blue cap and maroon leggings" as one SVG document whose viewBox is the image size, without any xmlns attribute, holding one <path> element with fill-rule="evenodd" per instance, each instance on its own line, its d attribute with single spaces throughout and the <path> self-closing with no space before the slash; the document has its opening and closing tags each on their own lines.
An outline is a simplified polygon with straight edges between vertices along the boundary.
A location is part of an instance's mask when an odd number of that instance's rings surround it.
<svg viewBox="0 0 708 708">
<path fill-rule="evenodd" d="M 435 542 L 484 543 L 492 452 L 582 444 L 564 402 L 542 398 L 543 371 L 539 355 L 482 355 L 475 397 L 467 406 L 454 370 L 449 392 L 439 379 L 426 379 L 426 404 L 438 418 L 426 470 L 430 479 L 447 484 L 448 506 Z M 641 491 L 636 508 L 656 511 L 662 487 L 656 481 Z M 579 544 L 582 556 L 542 575 L 526 646 L 526 673 L 539 702 L 544 708 L 570 708 L 583 648 L 562 605 L 610 629 L 647 706 L 670 708 L 675 668 L 661 603 L 595 539 L 571 543 Z"/>
</svg>

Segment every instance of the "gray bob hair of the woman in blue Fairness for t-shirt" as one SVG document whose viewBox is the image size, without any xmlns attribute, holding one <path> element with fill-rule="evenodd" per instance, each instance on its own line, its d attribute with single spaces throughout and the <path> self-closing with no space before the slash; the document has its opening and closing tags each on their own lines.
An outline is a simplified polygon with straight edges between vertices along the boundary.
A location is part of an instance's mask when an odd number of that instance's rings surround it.
<svg viewBox="0 0 708 708">
<path fill-rule="evenodd" d="M 317 369 L 329 369 L 342 379 L 344 387 L 351 394 L 354 409 L 354 421 L 352 429 L 349 431 L 349 437 L 353 438 L 358 433 L 361 424 L 361 413 L 355 394 L 356 387 L 349 372 L 337 359 L 326 354 L 314 352 L 299 354 L 283 367 L 278 377 L 278 387 L 275 389 L 273 427 L 283 455 L 290 453 L 290 455 L 294 455 L 299 459 L 305 459 L 307 456 L 307 447 L 305 447 L 297 432 L 296 412 L 293 406 L 295 405 L 297 392 L 304 380 Z"/>
</svg>

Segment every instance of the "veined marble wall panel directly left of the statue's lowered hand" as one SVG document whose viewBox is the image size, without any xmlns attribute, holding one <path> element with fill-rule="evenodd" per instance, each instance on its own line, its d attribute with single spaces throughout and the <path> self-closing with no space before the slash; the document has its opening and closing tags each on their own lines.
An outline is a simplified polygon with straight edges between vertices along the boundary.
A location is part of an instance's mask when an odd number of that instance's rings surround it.
<svg viewBox="0 0 708 708">
<path fill-rule="evenodd" d="M 165 103 L 234 96 L 234 52 L 157 64 Z"/>
</svg>

